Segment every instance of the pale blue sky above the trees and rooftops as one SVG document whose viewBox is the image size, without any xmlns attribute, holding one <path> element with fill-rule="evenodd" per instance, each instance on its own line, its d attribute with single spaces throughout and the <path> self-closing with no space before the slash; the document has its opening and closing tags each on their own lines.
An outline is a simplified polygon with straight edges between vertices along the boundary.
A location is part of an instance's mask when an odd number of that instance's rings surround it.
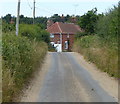
<svg viewBox="0 0 120 104">
<path fill-rule="evenodd" d="M 35 0 L 36 16 L 50 17 L 53 14 L 59 15 L 83 15 L 88 10 L 95 7 L 98 13 L 105 13 L 113 5 L 117 5 L 118 0 Z M 17 14 L 18 0 L 0 0 L 0 16 L 10 13 Z M 32 17 L 33 0 L 21 0 L 20 14 Z"/>
</svg>

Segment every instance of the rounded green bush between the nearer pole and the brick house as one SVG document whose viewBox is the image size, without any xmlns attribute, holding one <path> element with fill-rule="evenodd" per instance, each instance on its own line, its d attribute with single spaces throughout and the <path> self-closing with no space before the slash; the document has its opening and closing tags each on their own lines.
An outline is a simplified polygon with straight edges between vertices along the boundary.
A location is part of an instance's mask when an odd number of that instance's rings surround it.
<svg viewBox="0 0 120 104">
<path fill-rule="evenodd" d="M 50 42 L 49 33 L 45 30 L 42 30 L 37 25 L 20 25 L 20 34 L 26 36 L 31 40 L 44 41 L 46 43 Z"/>
</svg>

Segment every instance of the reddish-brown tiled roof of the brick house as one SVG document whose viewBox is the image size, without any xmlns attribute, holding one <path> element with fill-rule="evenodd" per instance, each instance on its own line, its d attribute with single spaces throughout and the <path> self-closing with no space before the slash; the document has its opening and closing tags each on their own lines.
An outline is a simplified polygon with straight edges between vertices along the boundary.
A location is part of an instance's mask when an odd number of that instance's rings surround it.
<svg viewBox="0 0 120 104">
<path fill-rule="evenodd" d="M 82 30 L 78 25 L 75 25 L 73 23 L 56 22 L 50 27 L 48 27 L 47 31 L 50 33 L 76 34 L 77 32 L 81 32 Z"/>
</svg>

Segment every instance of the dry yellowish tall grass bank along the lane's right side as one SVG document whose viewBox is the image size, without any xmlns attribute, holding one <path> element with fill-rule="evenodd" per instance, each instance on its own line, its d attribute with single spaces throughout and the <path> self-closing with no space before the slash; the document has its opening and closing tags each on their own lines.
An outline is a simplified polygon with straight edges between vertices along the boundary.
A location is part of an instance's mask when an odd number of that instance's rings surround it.
<svg viewBox="0 0 120 104">
<path fill-rule="evenodd" d="M 85 36 L 75 41 L 73 51 L 81 53 L 100 70 L 117 78 L 118 49 L 110 48 L 109 44 L 102 44 L 102 42 L 99 36 Z"/>
</svg>

